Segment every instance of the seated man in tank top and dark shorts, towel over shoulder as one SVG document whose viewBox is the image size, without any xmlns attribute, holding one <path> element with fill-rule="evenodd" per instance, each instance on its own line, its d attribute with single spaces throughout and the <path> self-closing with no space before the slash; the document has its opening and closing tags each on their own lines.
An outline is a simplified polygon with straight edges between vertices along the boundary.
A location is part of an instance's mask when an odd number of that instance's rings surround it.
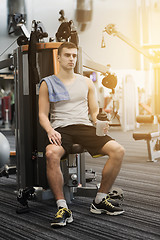
<svg viewBox="0 0 160 240">
<path fill-rule="evenodd" d="M 90 211 L 109 215 L 124 212 L 121 207 L 113 205 L 107 195 L 120 171 L 124 148 L 107 135 L 96 136 L 93 126 L 96 125 L 98 114 L 95 87 L 91 79 L 74 73 L 76 60 L 77 47 L 69 42 L 61 44 L 58 49 L 59 73 L 42 79 L 39 91 L 39 121 L 49 139 L 46 147 L 47 178 L 58 207 L 51 226 L 65 226 L 73 221 L 72 212 L 64 198 L 60 169 L 60 159 L 70 152 L 73 143 L 81 144 L 92 156 L 109 156 Z M 104 133 L 107 130 L 108 125 Z"/>
</svg>

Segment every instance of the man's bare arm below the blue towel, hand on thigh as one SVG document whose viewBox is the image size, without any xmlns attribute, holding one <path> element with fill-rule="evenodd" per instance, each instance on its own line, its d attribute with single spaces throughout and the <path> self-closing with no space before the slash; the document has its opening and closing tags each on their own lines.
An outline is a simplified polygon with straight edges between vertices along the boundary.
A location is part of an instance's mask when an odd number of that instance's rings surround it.
<svg viewBox="0 0 160 240">
<path fill-rule="evenodd" d="M 50 143 L 61 145 L 61 135 L 52 128 L 49 121 L 49 110 L 50 102 L 48 95 L 48 87 L 45 81 L 43 81 L 39 90 L 39 122 L 40 125 L 47 132 Z"/>
</svg>

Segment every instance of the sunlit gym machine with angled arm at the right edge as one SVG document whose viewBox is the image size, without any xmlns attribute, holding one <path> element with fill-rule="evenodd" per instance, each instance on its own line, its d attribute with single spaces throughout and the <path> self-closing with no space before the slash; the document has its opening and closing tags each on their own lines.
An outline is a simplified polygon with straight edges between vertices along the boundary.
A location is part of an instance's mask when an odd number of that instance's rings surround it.
<svg viewBox="0 0 160 240">
<path fill-rule="evenodd" d="M 160 55 L 158 54 L 158 51 L 155 51 L 154 54 L 149 54 L 148 52 L 144 51 L 143 48 L 132 42 L 130 39 L 128 39 L 126 36 L 124 36 L 122 33 L 116 30 L 114 24 L 108 24 L 103 32 L 107 32 L 109 35 L 114 35 L 120 38 L 122 41 L 127 43 L 129 46 L 134 48 L 139 53 L 143 54 L 149 61 L 153 64 L 154 69 L 154 99 L 153 99 L 153 113 L 154 115 L 150 116 L 137 116 L 137 122 L 140 124 L 152 124 L 154 121 L 157 123 L 157 129 L 154 132 L 135 132 L 133 133 L 133 138 L 135 140 L 146 140 L 147 142 L 147 149 L 148 149 L 148 157 L 149 161 L 156 162 L 157 158 L 160 158 Z M 102 38 L 102 46 L 105 47 L 104 44 L 104 38 Z M 159 48 L 160 46 L 156 46 L 156 48 Z M 150 46 L 152 48 L 152 46 Z M 153 46 L 154 48 L 154 46 Z"/>
</svg>

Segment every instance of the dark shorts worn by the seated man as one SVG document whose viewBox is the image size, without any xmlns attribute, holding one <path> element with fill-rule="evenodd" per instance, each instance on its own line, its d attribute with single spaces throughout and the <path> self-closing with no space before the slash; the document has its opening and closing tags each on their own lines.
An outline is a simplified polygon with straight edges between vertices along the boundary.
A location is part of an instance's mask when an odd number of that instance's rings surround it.
<svg viewBox="0 0 160 240">
<path fill-rule="evenodd" d="M 55 130 L 61 134 L 62 147 L 66 154 L 69 154 L 72 145 L 77 143 L 83 146 L 91 156 L 98 155 L 108 141 L 114 140 L 108 135 L 97 136 L 95 127 L 82 124 L 59 127 Z"/>
</svg>

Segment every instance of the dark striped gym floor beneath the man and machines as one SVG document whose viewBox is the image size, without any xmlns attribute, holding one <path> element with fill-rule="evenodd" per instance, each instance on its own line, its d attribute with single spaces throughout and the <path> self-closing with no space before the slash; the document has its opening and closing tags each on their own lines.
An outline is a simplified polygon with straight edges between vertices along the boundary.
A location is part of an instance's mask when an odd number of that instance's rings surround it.
<svg viewBox="0 0 160 240">
<path fill-rule="evenodd" d="M 94 215 L 89 212 L 92 199 L 76 196 L 70 204 L 74 222 L 53 229 L 50 222 L 57 210 L 53 200 L 30 201 L 29 213 L 16 214 L 16 175 L 11 175 L 0 178 L 0 239 L 159 240 L 160 160 L 148 162 L 146 142 L 135 141 L 132 134 L 132 131 L 110 130 L 110 135 L 126 149 L 114 184 L 124 191 L 123 215 Z M 13 134 L 7 137 L 14 148 Z M 96 171 L 96 181 L 92 185 L 100 182 L 105 161 L 105 157 L 93 159 L 86 153 L 86 169 Z"/>
</svg>

